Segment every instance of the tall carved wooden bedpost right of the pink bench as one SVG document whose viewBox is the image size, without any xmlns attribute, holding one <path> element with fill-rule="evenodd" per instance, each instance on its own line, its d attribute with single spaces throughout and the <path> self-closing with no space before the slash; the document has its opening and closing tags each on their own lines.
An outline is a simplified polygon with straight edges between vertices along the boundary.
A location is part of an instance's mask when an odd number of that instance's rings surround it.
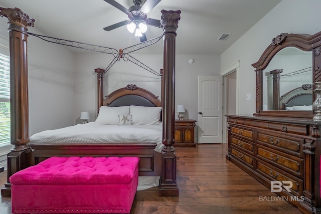
<svg viewBox="0 0 321 214">
<path fill-rule="evenodd" d="M 162 10 L 161 25 L 164 31 L 163 70 L 163 170 L 159 182 L 160 196 L 178 196 L 176 182 L 175 143 L 175 40 L 181 11 Z"/>
</svg>

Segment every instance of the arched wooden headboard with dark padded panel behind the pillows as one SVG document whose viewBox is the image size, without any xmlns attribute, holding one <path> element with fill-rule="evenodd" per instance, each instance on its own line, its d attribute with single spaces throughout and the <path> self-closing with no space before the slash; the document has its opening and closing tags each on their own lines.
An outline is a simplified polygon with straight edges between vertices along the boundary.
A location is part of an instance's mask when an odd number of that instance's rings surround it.
<svg viewBox="0 0 321 214">
<path fill-rule="evenodd" d="M 162 103 L 158 100 L 158 96 L 155 96 L 146 89 L 138 88 L 133 84 L 120 88 L 105 96 L 105 98 L 103 105 L 110 107 L 130 105 L 162 107 Z"/>
</svg>

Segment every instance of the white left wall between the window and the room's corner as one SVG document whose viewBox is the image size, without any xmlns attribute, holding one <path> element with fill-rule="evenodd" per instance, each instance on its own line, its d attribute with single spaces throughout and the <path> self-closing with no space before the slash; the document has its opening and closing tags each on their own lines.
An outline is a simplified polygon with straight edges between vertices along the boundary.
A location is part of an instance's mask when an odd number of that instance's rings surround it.
<svg viewBox="0 0 321 214">
<path fill-rule="evenodd" d="M 0 35 L 3 38 L 9 38 L 7 23 L 7 19 L 0 19 Z M 44 35 L 36 28 L 28 29 L 29 32 Z M 74 54 L 68 49 L 34 36 L 28 37 L 30 135 L 74 124 L 74 71 Z"/>
</svg>

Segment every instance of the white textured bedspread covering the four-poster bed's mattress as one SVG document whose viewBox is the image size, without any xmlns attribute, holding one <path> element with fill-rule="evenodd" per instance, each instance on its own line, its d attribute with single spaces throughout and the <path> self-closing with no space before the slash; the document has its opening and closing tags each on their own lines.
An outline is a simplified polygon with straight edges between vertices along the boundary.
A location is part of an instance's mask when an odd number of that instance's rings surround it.
<svg viewBox="0 0 321 214">
<path fill-rule="evenodd" d="M 96 122 L 47 130 L 30 137 L 30 144 L 157 143 L 161 152 L 162 123 L 158 125 L 101 125 Z"/>
</svg>

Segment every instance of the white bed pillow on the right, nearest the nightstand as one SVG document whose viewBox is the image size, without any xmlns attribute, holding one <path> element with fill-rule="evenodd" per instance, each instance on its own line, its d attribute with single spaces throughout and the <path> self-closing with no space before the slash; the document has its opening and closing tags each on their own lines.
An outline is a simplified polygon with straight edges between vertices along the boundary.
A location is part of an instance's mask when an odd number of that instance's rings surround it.
<svg viewBox="0 0 321 214">
<path fill-rule="evenodd" d="M 162 107 L 130 106 L 132 125 L 157 125 Z"/>
</svg>

